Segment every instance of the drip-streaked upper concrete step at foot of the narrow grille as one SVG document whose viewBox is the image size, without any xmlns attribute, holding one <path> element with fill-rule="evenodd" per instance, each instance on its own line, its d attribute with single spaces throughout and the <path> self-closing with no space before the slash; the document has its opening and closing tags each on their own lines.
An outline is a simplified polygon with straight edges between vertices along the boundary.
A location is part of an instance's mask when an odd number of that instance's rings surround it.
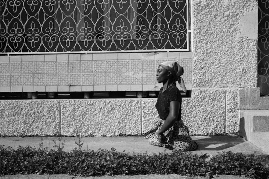
<svg viewBox="0 0 269 179">
<path fill-rule="evenodd" d="M 239 109 L 269 109 L 269 97 L 260 97 L 260 88 L 241 88 Z"/>
</svg>

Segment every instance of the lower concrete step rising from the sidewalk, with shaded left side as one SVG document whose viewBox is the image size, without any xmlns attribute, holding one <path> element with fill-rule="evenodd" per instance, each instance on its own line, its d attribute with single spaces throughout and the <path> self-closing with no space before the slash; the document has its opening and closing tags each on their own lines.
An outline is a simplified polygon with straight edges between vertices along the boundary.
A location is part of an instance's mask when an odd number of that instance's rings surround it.
<svg viewBox="0 0 269 179">
<path fill-rule="evenodd" d="M 239 135 L 269 154 L 269 110 L 240 110 Z"/>
</svg>

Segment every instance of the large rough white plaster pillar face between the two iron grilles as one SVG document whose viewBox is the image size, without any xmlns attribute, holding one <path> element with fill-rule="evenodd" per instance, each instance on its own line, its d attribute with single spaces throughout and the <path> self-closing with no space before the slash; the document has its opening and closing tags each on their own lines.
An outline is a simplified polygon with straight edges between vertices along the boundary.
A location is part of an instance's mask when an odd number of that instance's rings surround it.
<svg viewBox="0 0 269 179">
<path fill-rule="evenodd" d="M 193 88 L 256 87 L 257 32 L 245 27 L 258 26 L 249 15 L 257 8 L 256 0 L 192 1 Z"/>
</svg>

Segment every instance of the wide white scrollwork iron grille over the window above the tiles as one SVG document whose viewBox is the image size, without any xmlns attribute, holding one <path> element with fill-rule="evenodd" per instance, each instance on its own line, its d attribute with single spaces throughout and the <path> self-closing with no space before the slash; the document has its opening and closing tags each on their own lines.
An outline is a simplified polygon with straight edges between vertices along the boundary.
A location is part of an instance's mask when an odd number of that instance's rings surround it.
<svg viewBox="0 0 269 179">
<path fill-rule="evenodd" d="M 188 50 L 187 0 L 0 0 L 0 53 Z"/>
</svg>

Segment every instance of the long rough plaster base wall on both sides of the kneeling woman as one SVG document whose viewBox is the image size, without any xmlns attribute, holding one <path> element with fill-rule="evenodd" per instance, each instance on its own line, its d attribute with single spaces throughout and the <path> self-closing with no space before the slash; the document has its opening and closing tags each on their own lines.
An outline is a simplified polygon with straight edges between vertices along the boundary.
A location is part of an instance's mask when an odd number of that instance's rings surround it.
<svg viewBox="0 0 269 179">
<path fill-rule="evenodd" d="M 182 120 L 191 135 L 235 133 L 227 120 L 225 89 L 194 89 L 182 100 Z M 138 135 L 158 120 L 156 98 L 0 100 L 0 135 Z M 214 100 L 214 102 L 212 102 Z"/>
</svg>

